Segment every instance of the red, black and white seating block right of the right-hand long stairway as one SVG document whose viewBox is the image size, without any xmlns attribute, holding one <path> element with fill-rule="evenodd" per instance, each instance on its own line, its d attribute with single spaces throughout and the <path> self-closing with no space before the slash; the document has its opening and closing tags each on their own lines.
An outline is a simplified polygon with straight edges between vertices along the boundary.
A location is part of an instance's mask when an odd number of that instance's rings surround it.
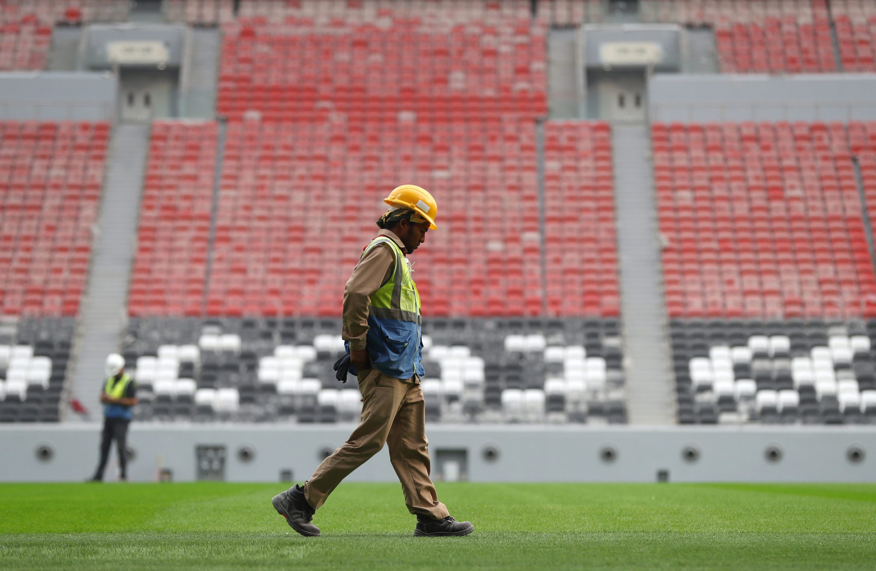
<svg viewBox="0 0 876 571">
<path fill-rule="evenodd" d="M 872 419 L 872 130 L 653 124 L 680 422 Z"/>
</svg>

